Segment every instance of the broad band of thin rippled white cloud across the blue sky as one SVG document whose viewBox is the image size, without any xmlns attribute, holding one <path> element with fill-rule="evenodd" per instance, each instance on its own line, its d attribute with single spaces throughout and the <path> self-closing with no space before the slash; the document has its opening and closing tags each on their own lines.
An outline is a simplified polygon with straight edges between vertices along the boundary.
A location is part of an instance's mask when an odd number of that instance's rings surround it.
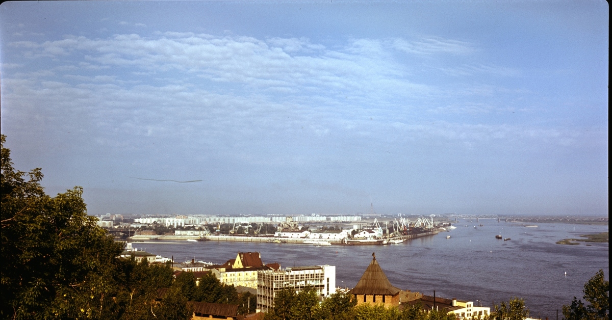
<svg viewBox="0 0 612 320">
<path fill-rule="evenodd" d="M 288 136 L 467 145 L 571 145 L 581 140 L 567 130 L 459 119 L 430 122 L 432 114 L 490 114 L 497 108 L 487 99 L 513 92 L 491 84 L 419 83 L 395 61 L 389 43 L 416 54 L 473 50 L 469 43 L 446 39 L 353 39 L 332 50 L 305 38 L 259 40 L 190 32 L 15 42 L 32 57 L 59 62 L 50 70 L 3 78 L 3 103 L 10 103 L 9 118 L 15 124 L 28 127 L 62 119 L 59 127 L 84 125 L 97 136 L 95 141 L 116 141 L 116 146 L 155 138 L 225 150 L 253 138 L 283 141 Z M 487 64 L 455 70 L 513 73 Z M 47 109 L 32 112 L 36 106 Z M 43 120 L 32 119 L 33 114 Z"/>
</svg>

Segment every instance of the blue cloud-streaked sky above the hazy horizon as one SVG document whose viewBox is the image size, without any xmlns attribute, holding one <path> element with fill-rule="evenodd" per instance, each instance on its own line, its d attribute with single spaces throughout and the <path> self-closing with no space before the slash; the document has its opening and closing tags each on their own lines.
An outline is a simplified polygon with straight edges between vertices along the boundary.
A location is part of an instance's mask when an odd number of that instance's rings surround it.
<svg viewBox="0 0 612 320">
<path fill-rule="evenodd" d="M 93 215 L 607 215 L 608 14 L 3 2 L 1 132 Z"/>
</svg>

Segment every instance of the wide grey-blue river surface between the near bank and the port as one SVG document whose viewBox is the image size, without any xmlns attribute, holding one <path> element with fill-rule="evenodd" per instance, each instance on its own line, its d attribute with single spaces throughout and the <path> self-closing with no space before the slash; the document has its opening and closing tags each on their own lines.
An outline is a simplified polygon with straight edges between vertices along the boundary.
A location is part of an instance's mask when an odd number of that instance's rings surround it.
<svg viewBox="0 0 612 320">
<path fill-rule="evenodd" d="M 258 251 L 264 263 L 278 262 L 283 268 L 329 264 L 336 266 L 336 285 L 347 288 L 357 284 L 375 252 L 389 281 L 400 289 L 429 296 L 435 290 L 436 296 L 480 302 L 483 307 L 521 297 L 530 316 L 550 320 L 556 319 L 556 310 L 561 318 L 561 306 L 574 296 L 583 297 L 584 283 L 599 269 L 609 279 L 608 243 L 555 244 L 606 232 L 608 226 L 540 223 L 529 228 L 493 219 L 453 225 L 457 229 L 447 233 L 384 246 L 147 241 L 134 242 L 133 247 L 173 256 L 176 262 L 195 258 L 222 264 L 238 251 Z M 496 234 L 511 240 L 497 240 Z"/>
</svg>

